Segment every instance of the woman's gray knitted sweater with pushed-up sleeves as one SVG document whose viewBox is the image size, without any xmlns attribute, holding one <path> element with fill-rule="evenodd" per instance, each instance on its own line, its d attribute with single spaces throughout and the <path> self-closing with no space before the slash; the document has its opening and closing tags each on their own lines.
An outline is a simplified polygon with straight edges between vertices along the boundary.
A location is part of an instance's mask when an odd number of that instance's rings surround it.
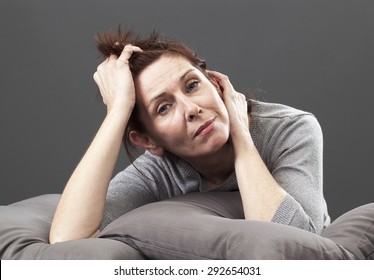
<svg viewBox="0 0 374 280">
<path fill-rule="evenodd" d="M 251 136 L 287 195 L 272 222 L 321 233 L 330 223 L 322 185 L 322 131 L 311 114 L 252 101 Z M 235 172 L 210 191 L 238 190 Z M 110 183 L 101 228 L 141 205 L 188 192 L 206 192 L 199 173 L 182 159 L 145 152 Z"/>
</svg>

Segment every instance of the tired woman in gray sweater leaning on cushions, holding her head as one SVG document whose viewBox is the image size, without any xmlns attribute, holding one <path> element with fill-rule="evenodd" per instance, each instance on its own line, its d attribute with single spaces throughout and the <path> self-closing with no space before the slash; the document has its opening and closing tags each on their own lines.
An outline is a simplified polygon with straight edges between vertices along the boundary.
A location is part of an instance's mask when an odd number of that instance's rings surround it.
<svg viewBox="0 0 374 280">
<path fill-rule="evenodd" d="M 183 44 L 108 32 L 94 74 L 107 115 L 73 172 L 50 242 L 94 237 L 146 203 L 193 191 L 240 191 L 245 218 L 320 233 L 322 134 L 313 115 L 246 101 Z M 122 138 L 146 150 L 111 180 Z"/>
</svg>

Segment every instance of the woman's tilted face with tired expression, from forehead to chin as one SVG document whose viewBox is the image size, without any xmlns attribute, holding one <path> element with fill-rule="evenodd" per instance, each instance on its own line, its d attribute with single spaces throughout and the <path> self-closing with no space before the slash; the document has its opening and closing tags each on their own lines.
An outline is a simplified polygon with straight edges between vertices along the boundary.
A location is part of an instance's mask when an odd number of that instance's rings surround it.
<svg viewBox="0 0 374 280">
<path fill-rule="evenodd" d="M 217 88 L 185 58 L 164 55 L 135 82 L 141 121 L 153 144 L 189 160 L 227 142 L 229 119 Z"/>
</svg>

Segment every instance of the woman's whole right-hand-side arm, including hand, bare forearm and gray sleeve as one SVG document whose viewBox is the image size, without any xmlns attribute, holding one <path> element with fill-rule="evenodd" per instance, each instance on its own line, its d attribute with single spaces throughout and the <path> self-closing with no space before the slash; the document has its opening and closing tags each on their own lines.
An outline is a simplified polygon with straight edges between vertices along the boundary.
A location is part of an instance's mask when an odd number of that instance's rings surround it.
<svg viewBox="0 0 374 280">
<path fill-rule="evenodd" d="M 272 221 L 320 233 L 329 221 L 322 190 L 322 132 L 311 114 L 285 118 L 282 133 L 268 133 L 265 165 L 248 130 L 245 96 L 212 72 L 230 117 L 235 171 L 247 219 Z M 275 133 L 275 131 L 273 131 Z M 277 134 L 277 133 L 276 133 Z M 262 155 L 264 156 L 264 155 Z"/>
</svg>

